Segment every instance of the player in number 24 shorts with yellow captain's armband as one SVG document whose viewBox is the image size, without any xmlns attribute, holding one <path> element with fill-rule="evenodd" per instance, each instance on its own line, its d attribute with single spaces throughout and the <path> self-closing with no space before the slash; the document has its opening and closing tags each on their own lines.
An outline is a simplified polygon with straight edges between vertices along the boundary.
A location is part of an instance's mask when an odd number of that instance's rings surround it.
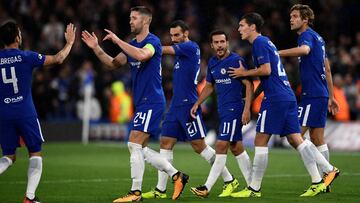
<svg viewBox="0 0 360 203">
<path fill-rule="evenodd" d="M 165 109 L 164 91 L 161 86 L 161 43 L 160 39 L 149 32 L 152 14 L 144 6 L 131 8 L 130 27 L 135 38 L 127 43 L 113 32 L 103 40 L 111 40 L 123 52 L 115 58 L 109 56 L 99 46 L 95 33 L 82 32 L 82 40 L 95 55 L 110 68 L 117 68 L 128 63 L 131 67 L 132 91 L 135 103 L 135 116 L 129 136 L 130 168 L 132 186 L 130 192 L 114 202 L 141 201 L 141 187 L 145 170 L 144 162 L 150 163 L 158 170 L 166 172 L 174 181 L 173 200 L 180 197 L 188 176 L 176 170 L 170 162 L 158 152 L 147 147 L 150 135 L 160 127 L 160 120 Z"/>
</svg>

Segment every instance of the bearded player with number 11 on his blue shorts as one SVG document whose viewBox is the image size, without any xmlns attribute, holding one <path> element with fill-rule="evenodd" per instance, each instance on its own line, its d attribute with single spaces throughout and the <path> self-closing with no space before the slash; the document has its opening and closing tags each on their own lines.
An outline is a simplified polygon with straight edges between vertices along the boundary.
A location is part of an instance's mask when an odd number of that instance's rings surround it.
<svg viewBox="0 0 360 203">
<path fill-rule="evenodd" d="M 218 112 L 220 117 L 219 135 L 216 141 L 215 161 L 204 185 L 192 187 L 191 192 L 199 197 L 207 197 L 217 178 L 225 168 L 227 151 L 230 148 L 239 168 L 245 178 L 246 185 L 251 180 L 251 161 L 242 144 L 242 126 L 250 121 L 250 106 L 254 86 L 246 78 L 234 79 L 228 74 L 232 67 L 245 64 L 244 59 L 229 50 L 227 34 L 215 30 L 210 34 L 211 48 L 216 56 L 210 58 L 206 85 L 199 99 L 191 108 L 192 117 L 198 115 L 199 106 L 216 88 Z M 242 99 L 242 89 L 245 87 L 245 104 Z"/>
</svg>

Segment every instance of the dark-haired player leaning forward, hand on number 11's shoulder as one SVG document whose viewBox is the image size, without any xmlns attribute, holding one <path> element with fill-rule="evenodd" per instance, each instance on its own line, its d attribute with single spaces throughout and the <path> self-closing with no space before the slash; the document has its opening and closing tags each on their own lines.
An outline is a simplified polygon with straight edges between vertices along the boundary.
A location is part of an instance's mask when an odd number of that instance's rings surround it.
<svg viewBox="0 0 360 203">
<path fill-rule="evenodd" d="M 295 95 L 290 87 L 285 69 L 281 63 L 276 46 L 261 35 L 264 24 L 258 13 L 244 15 L 239 22 L 242 40 L 252 44 L 252 56 L 255 69 L 247 70 L 243 66 L 229 71 L 234 78 L 260 77 L 261 83 L 255 91 L 255 98 L 264 91 L 259 118 L 256 124 L 255 156 L 250 185 L 232 197 L 261 197 L 261 183 L 268 164 L 268 142 L 272 135 L 286 137 L 290 145 L 298 151 L 305 168 L 311 176 L 311 186 L 300 196 L 310 197 L 326 190 L 335 178 L 337 169 L 332 166 L 308 140 L 303 140 L 297 115 Z M 321 165 L 329 174 L 323 181 L 316 164 Z"/>
</svg>

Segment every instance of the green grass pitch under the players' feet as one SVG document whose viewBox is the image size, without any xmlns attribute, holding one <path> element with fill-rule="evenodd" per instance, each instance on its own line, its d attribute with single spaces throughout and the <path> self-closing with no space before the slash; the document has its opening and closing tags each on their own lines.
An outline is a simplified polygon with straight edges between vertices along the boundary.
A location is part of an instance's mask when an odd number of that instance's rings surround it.
<svg viewBox="0 0 360 203">
<path fill-rule="evenodd" d="M 151 147 L 158 150 L 157 143 Z M 248 150 L 253 158 L 253 150 Z M 27 179 L 27 152 L 17 152 L 16 163 L 0 175 L 0 203 L 22 202 Z M 45 203 L 106 203 L 124 195 L 131 186 L 129 152 L 124 143 L 45 143 L 43 175 L 37 196 Z M 178 144 L 174 149 L 175 167 L 188 173 L 190 180 L 177 202 L 360 202 L 360 153 L 331 152 L 331 161 L 341 170 L 333 183 L 332 192 L 312 198 L 299 195 L 310 186 L 310 177 L 295 150 L 270 149 L 269 164 L 262 185 L 262 198 L 218 198 L 222 180 L 218 179 L 210 196 L 200 199 L 189 188 L 205 183 L 210 166 L 190 145 Z M 245 187 L 235 158 L 229 154 L 227 166 Z M 146 164 L 143 191 L 155 187 L 157 171 Z M 168 197 L 173 185 L 169 180 Z M 144 200 L 144 202 L 173 202 Z"/>
</svg>

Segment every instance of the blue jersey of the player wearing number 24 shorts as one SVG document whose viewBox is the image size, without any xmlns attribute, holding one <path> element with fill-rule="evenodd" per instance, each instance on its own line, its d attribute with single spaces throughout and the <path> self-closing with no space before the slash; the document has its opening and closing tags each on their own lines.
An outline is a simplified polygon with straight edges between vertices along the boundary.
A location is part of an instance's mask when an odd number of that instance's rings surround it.
<svg viewBox="0 0 360 203">
<path fill-rule="evenodd" d="M 144 40 L 137 42 L 133 39 L 131 45 L 143 48 L 151 44 L 155 53 L 148 61 L 141 62 L 127 56 L 131 67 L 132 91 L 135 107 L 143 104 L 165 103 L 164 91 L 161 86 L 161 54 L 160 39 L 149 33 Z"/>
</svg>

